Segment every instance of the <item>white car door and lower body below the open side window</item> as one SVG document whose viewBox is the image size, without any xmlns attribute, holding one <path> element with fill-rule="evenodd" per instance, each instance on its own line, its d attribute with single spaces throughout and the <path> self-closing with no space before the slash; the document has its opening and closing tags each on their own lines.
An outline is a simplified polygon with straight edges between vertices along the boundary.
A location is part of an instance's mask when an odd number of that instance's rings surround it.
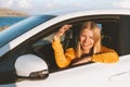
<svg viewBox="0 0 130 87">
<path fill-rule="evenodd" d="M 49 75 L 47 79 L 23 80 L 0 87 L 130 87 L 130 54 L 118 63 L 92 63 Z M 74 83 L 75 82 L 75 83 Z M 80 82 L 80 83 L 79 83 Z"/>
</svg>

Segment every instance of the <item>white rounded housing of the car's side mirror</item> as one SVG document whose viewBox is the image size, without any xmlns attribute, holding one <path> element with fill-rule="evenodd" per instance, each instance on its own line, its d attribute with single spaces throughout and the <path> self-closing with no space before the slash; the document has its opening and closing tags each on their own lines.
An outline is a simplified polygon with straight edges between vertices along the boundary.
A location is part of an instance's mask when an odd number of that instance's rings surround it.
<svg viewBox="0 0 130 87">
<path fill-rule="evenodd" d="M 35 64 L 35 66 L 34 66 Z M 24 54 L 15 61 L 15 70 L 18 76 L 29 76 L 30 72 L 49 70 L 47 63 L 35 54 Z"/>
</svg>

